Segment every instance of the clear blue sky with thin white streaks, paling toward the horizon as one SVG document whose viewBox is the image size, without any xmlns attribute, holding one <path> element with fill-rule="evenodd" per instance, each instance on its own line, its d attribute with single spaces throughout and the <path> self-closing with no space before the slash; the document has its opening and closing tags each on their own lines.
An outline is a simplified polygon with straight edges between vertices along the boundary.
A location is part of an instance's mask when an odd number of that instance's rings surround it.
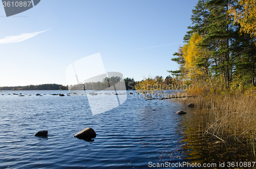
<svg viewBox="0 0 256 169">
<path fill-rule="evenodd" d="M 0 86 L 67 85 L 66 68 L 100 53 L 106 71 L 169 75 L 195 0 L 41 0 L 6 17 L 0 7 Z M 25 39 L 25 40 L 24 40 Z"/>
</svg>

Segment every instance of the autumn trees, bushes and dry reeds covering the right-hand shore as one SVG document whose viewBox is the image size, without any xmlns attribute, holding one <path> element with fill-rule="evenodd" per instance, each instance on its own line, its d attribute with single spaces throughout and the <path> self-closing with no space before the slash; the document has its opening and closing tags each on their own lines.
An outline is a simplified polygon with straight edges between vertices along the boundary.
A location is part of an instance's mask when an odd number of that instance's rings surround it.
<svg viewBox="0 0 256 169">
<path fill-rule="evenodd" d="M 256 159 L 256 2 L 199 0 L 192 12 L 185 43 L 171 59 L 179 69 L 168 71 L 184 91 L 164 91 L 173 86 L 153 78 L 136 89 L 146 100 L 195 104 L 205 112 L 205 134 L 248 142 Z"/>
</svg>

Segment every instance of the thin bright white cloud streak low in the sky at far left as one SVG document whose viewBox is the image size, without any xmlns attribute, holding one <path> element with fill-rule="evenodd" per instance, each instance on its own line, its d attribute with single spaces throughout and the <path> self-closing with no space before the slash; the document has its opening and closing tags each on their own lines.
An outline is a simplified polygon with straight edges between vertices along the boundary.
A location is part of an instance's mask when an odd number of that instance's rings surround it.
<svg viewBox="0 0 256 169">
<path fill-rule="evenodd" d="M 50 30 L 50 29 L 48 29 Z M 48 31 L 46 30 L 46 31 Z M 6 43 L 18 43 L 21 41 L 24 41 L 26 39 L 32 38 L 42 32 L 46 32 L 46 31 L 41 31 L 41 32 L 34 32 L 34 33 L 25 33 L 25 34 L 20 34 L 17 36 L 6 36 L 3 39 L 0 39 L 0 44 L 6 44 Z"/>
</svg>

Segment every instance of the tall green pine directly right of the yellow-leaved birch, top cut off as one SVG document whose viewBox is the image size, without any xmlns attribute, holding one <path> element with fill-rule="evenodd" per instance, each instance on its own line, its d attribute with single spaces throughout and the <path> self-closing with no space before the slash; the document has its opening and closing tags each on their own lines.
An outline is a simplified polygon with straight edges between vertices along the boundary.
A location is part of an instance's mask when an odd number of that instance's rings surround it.
<svg viewBox="0 0 256 169">
<path fill-rule="evenodd" d="M 230 45 L 234 28 L 232 20 L 227 13 L 228 7 L 232 4 L 230 0 L 211 0 L 205 5 L 210 12 L 207 30 L 209 31 L 202 40 L 202 47 L 210 51 L 211 65 L 216 76 L 222 76 L 225 87 L 229 87 L 232 76 L 232 63 L 230 60 Z"/>
</svg>

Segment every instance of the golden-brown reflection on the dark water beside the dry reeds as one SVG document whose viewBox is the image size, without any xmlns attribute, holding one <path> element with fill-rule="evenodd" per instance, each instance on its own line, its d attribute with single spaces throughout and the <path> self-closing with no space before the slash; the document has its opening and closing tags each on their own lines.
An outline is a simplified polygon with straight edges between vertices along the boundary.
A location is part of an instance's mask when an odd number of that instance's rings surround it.
<svg viewBox="0 0 256 169">
<path fill-rule="evenodd" d="M 229 168 L 227 165 L 230 163 L 228 162 L 240 163 L 254 161 L 251 150 L 246 142 L 240 143 L 231 138 L 224 142 L 215 136 L 204 134 L 207 123 L 202 120 L 204 114 L 194 108 L 188 109 L 187 111 L 189 112 L 186 117 L 187 120 L 183 122 L 185 135 L 182 140 L 184 143 L 182 148 L 186 156 L 184 161 L 201 164 L 215 163 L 217 164 L 217 168 L 223 162 L 225 163 L 225 167 Z"/>
</svg>

